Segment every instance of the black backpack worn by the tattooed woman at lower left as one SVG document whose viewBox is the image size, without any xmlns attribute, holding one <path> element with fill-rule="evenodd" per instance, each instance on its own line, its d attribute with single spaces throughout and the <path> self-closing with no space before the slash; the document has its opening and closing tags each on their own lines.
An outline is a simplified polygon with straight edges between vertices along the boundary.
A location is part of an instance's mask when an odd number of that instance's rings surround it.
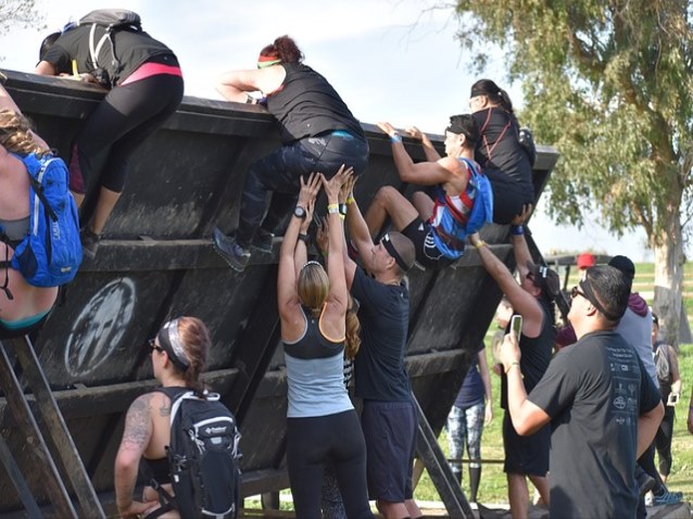
<svg viewBox="0 0 693 519">
<path fill-rule="evenodd" d="M 162 507 L 150 517 L 177 509 L 181 518 L 236 518 L 240 469 L 236 418 L 217 393 L 159 388 L 171 405 L 171 445 L 166 447 L 174 495 L 152 480 Z"/>
</svg>

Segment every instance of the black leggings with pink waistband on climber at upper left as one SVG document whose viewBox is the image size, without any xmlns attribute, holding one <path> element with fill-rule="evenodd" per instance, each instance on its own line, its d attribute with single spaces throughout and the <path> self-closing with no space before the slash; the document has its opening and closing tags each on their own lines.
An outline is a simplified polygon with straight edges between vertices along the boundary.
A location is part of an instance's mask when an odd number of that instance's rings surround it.
<svg viewBox="0 0 693 519">
<path fill-rule="evenodd" d="M 182 88 L 182 78 L 169 74 L 113 88 L 77 135 L 70 161 L 70 189 L 84 194 L 102 186 L 122 192 L 130 157 L 176 111 Z"/>
</svg>

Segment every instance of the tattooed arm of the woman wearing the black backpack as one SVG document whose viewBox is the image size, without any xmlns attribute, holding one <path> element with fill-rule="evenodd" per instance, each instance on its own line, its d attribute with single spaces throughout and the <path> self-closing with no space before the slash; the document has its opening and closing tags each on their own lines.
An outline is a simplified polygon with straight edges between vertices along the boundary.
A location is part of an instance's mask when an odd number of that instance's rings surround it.
<svg viewBox="0 0 693 519">
<path fill-rule="evenodd" d="M 151 503 L 133 501 L 137 471 L 142 453 L 152 438 L 151 404 L 154 394 L 139 396 L 127 410 L 121 447 L 115 457 L 115 503 L 121 517 L 136 517 L 151 507 Z"/>
</svg>

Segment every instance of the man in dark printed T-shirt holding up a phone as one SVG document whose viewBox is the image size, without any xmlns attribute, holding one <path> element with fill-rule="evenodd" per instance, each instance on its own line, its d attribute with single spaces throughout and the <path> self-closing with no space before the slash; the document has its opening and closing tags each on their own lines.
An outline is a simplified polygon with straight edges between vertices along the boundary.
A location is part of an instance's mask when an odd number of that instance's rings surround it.
<svg viewBox="0 0 693 519">
<path fill-rule="evenodd" d="M 615 331 L 629 293 L 618 269 L 587 270 L 568 314 L 579 340 L 555 355 L 529 395 L 512 333 L 501 347 L 514 427 L 527 435 L 551 423 L 551 517 L 637 517 L 635 458 L 664 409 L 640 357 Z"/>
</svg>

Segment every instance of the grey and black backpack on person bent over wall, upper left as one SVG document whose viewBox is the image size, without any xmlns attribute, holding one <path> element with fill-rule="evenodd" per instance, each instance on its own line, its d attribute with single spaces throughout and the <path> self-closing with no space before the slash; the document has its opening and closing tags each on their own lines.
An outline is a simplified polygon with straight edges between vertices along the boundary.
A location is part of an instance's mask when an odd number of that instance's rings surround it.
<svg viewBox="0 0 693 519">
<path fill-rule="evenodd" d="M 141 31 L 142 21 L 140 20 L 139 14 L 126 9 L 97 9 L 79 18 L 79 23 L 77 25 L 91 26 L 89 31 L 89 55 L 94 71 L 91 74 L 101 85 L 109 88 L 114 87 L 113 78 L 109 76 L 103 64 L 99 63 L 99 52 L 101 51 L 101 47 L 109 41 L 111 45 L 111 64 L 114 69 L 119 72 L 122 69 L 121 60 L 118 60 L 116 55 L 115 47 L 113 46 L 113 38 L 111 36 L 114 30 Z M 105 28 L 105 33 L 97 42 L 96 29 L 98 26 Z"/>
</svg>

